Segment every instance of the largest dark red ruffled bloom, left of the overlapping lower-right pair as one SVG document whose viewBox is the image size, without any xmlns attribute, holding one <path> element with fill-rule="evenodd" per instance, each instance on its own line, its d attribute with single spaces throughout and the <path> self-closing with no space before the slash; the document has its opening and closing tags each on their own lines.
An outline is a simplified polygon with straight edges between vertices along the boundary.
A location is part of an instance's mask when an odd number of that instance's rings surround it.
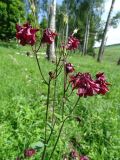
<svg viewBox="0 0 120 160">
<path fill-rule="evenodd" d="M 78 89 L 80 97 L 93 96 L 99 92 L 99 85 L 91 78 L 89 73 L 78 73 L 70 77 L 72 88 Z"/>
</svg>

